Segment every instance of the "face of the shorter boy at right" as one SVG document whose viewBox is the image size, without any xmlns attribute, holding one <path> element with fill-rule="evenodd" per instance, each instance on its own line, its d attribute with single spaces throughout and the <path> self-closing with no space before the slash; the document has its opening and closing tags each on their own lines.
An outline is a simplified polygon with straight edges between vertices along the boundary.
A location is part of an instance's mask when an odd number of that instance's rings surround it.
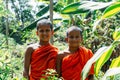
<svg viewBox="0 0 120 80">
<path fill-rule="evenodd" d="M 79 47 L 80 42 L 82 41 L 80 31 L 78 30 L 70 31 L 68 33 L 66 41 L 68 42 L 69 47 Z"/>
</svg>

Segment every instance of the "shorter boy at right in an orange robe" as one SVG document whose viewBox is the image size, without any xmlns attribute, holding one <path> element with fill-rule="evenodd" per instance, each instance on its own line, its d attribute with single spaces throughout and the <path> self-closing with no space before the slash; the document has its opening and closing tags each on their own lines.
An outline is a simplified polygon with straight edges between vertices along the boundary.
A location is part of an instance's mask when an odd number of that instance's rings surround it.
<svg viewBox="0 0 120 80">
<path fill-rule="evenodd" d="M 68 49 L 60 52 L 57 56 L 56 70 L 59 77 L 64 80 L 81 80 L 81 71 L 86 62 L 93 56 L 91 50 L 80 46 L 82 31 L 76 26 L 67 30 L 66 41 Z M 93 66 L 86 80 L 93 80 Z"/>
</svg>

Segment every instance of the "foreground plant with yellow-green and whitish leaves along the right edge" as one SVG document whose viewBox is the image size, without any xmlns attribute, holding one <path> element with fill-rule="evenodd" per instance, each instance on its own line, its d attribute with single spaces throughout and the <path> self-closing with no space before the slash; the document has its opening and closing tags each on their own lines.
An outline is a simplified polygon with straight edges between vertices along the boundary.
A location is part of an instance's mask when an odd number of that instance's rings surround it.
<svg viewBox="0 0 120 80">
<path fill-rule="evenodd" d="M 110 16 L 113 16 L 114 14 L 117 14 L 119 11 L 120 11 L 120 2 L 115 2 L 114 4 L 112 4 L 111 6 L 109 6 L 108 8 L 105 9 L 105 11 L 103 12 L 103 15 L 102 15 L 102 19 L 105 19 L 105 18 L 108 18 Z M 112 11 L 112 12 L 111 12 Z M 101 20 L 99 20 L 97 23 L 100 22 Z M 96 24 L 95 24 L 96 26 Z M 115 49 L 116 46 L 118 46 L 120 44 L 120 29 L 116 29 L 114 34 L 113 34 L 113 43 L 108 46 L 108 47 L 102 47 L 100 48 L 96 53 L 95 55 L 87 62 L 87 64 L 85 65 L 84 69 L 83 69 L 83 72 L 82 72 L 82 77 L 83 77 L 83 80 L 86 78 L 87 76 L 87 73 L 91 67 L 91 65 L 95 62 L 95 75 L 98 76 L 98 73 L 101 69 L 101 67 L 105 64 L 105 62 L 110 58 L 113 50 Z M 119 59 L 119 57 L 118 57 Z M 112 62 L 112 66 L 115 66 L 115 67 L 120 67 L 119 65 L 119 60 L 116 59 L 116 61 L 114 60 Z M 88 67 L 89 66 L 89 67 Z M 111 67 L 112 68 L 112 67 Z M 116 69 L 109 69 L 104 77 L 102 78 L 102 80 L 105 80 L 106 79 L 106 76 L 108 75 L 114 75 L 114 74 L 118 74 L 120 73 L 119 71 L 116 73 L 115 70 L 119 70 L 119 68 L 116 68 Z M 110 73 L 108 73 L 110 72 Z M 111 74 L 112 72 L 112 74 Z"/>
</svg>

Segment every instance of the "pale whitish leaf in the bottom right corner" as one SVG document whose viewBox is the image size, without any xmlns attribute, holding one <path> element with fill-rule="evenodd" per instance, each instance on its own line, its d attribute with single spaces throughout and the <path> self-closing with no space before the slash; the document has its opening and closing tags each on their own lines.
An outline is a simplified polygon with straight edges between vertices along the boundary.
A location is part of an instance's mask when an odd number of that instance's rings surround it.
<svg viewBox="0 0 120 80">
<path fill-rule="evenodd" d="M 101 80 L 106 80 L 106 78 L 108 76 L 113 76 L 116 74 L 120 74 L 120 67 L 118 68 L 110 68 L 109 70 L 107 70 L 107 72 L 105 73 L 105 75 L 103 76 L 103 78 Z"/>
</svg>

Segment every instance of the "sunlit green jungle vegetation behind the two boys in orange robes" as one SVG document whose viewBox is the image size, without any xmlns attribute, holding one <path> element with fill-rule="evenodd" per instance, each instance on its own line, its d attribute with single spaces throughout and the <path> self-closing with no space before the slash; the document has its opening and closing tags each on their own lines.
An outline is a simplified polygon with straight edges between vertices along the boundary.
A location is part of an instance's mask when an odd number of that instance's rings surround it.
<svg viewBox="0 0 120 80">
<path fill-rule="evenodd" d="M 42 18 L 53 21 L 55 33 L 51 41 L 59 50 L 67 47 L 65 31 L 71 25 L 77 25 L 83 30 L 82 45 L 91 49 L 93 53 L 96 53 L 99 48 L 113 43 L 113 33 L 120 28 L 120 12 L 101 20 L 93 31 L 93 24 L 101 18 L 105 8 L 110 4 L 94 11 L 86 9 L 71 11 L 79 2 L 87 0 L 53 0 L 53 7 L 50 7 L 51 1 L 0 0 L 0 80 L 23 80 L 24 52 L 27 45 L 38 42 L 36 23 Z M 108 3 L 112 0 L 91 1 Z M 68 6 L 73 3 L 76 4 L 72 5 L 73 8 Z M 53 16 L 49 16 L 51 11 Z M 112 60 L 120 56 L 119 43 L 110 56 L 102 66 L 99 78 L 95 78 L 95 80 L 100 80 L 109 69 Z M 113 80 L 119 79 L 120 74 L 115 75 Z"/>
</svg>

